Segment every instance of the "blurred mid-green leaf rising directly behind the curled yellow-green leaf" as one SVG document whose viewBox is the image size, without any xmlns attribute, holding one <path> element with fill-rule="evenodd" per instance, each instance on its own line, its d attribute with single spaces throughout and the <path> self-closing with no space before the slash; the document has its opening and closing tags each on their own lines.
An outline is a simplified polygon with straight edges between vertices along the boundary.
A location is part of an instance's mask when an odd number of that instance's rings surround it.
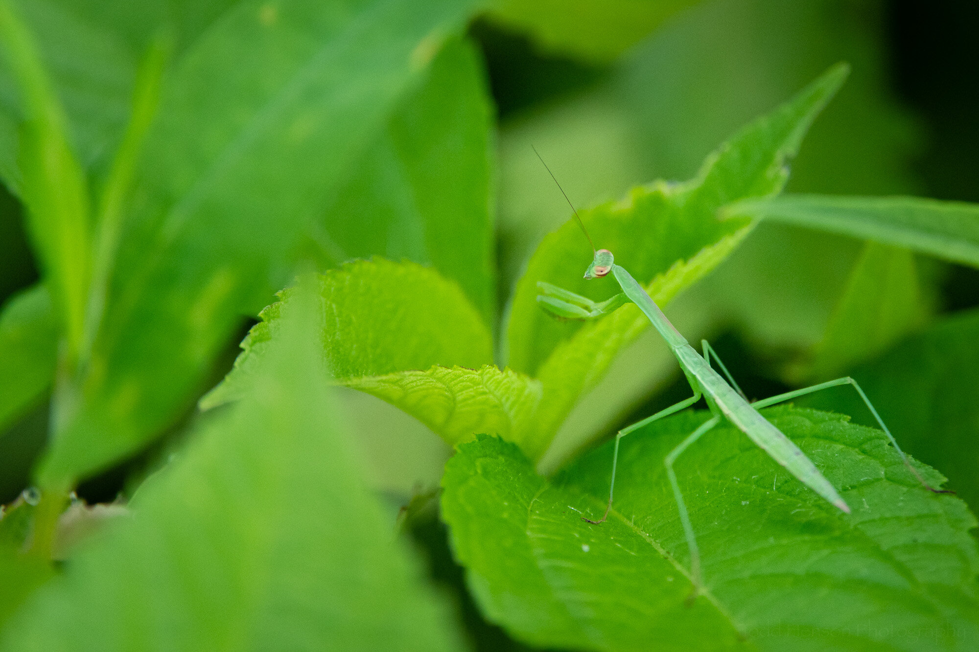
<svg viewBox="0 0 979 652">
<path fill-rule="evenodd" d="M 493 323 L 491 114 L 478 53 L 450 39 L 326 210 L 314 239 L 329 264 L 432 264 Z"/>
</svg>

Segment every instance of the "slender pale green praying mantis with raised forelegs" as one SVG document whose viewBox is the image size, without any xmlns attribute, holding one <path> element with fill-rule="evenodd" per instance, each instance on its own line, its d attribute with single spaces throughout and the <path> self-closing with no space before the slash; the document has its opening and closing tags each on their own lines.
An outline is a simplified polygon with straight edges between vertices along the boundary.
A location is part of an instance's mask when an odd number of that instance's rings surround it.
<svg viewBox="0 0 979 652">
<path fill-rule="evenodd" d="M 539 154 L 537 154 L 537 158 L 540 158 Z M 905 455 L 904 451 L 901 450 L 901 446 L 898 445 L 898 442 L 894 439 L 891 431 L 888 430 L 883 419 L 880 418 L 880 415 L 870 402 L 870 399 L 863 393 L 861 386 L 853 378 L 838 378 L 825 383 L 819 383 L 818 385 L 814 385 L 812 387 L 750 402 L 747 396 L 745 396 L 738 387 L 730 372 L 727 371 L 727 368 L 724 366 L 717 352 L 714 349 L 711 349 L 711 346 L 708 344 L 707 340 L 702 342 L 704 353 L 701 355 L 696 351 L 696 349 L 693 349 L 693 347 L 690 346 L 682 335 L 680 335 L 679 331 L 677 331 L 674 325 L 670 323 L 670 320 L 667 319 L 667 316 L 663 313 L 663 310 L 661 310 L 660 307 L 652 300 L 652 298 L 650 298 L 646 291 L 643 290 L 642 286 L 639 285 L 634 278 L 632 278 L 626 268 L 616 264 L 615 256 L 613 256 L 612 252 L 605 249 L 595 250 L 591 237 L 585 230 L 582 218 L 578 214 L 578 210 L 575 210 L 571 200 L 568 199 L 567 194 L 564 193 L 564 189 L 561 188 L 561 184 L 558 183 L 557 178 L 554 177 L 554 173 L 550 171 L 549 167 L 547 167 L 547 163 L 544 163 L 543 159 L 540 159 L 540 163 L 544 164 L 544 167 L 547 168 L 551 178 L 553 178 L 554 182 L 557 183 L 561 193 L 564 195 L 565 199 L 568 201 L 568 204 L 574 211 L 575 218 L 578 220 L 579 226 L 582 227 L 582 231 L 585 238 L 588 240 L 588 244 L 591 245 L 592 260 L 591 264 L 589 264 L 587 269 L 584 271 L 584 278 L 603 278 L 611 273 L 615 280 L 619 283 L 622 292 L 605 302 L 596 303 L 590 299 L 587 299 L 586 297 L 582 297 L 581 295 L 577 295 L 573 292 L 569 292 L 568 290 L 564 290 L 557 286 L 551 285 L 550 283 L 544 283 L 541 281 L 537 283 L 537 288 L 540 290 L 540 294 L 537 295 L 537 302 L 555 316 L 566 319 L 580 320 L 597 319 L 603 315 L 614 312 L 626 303 L 635 303 L 646 315 L 646 317 L 649 318 L 649 321 L 663 337 L 667 345 L 669 345 L 671 351 L 676 356 L 676 361 L 679 363 L 680 369 L 682 369 L 683 374 L 690 385 L 690 389 L 693 390 L 693 396 L 681 400 L 675 405 L 671 405 L 670 407 L 660 410 L 659 412 L 653 414 L 652 416 L 646 417 L 641 421 L 631 424 L 616 434 L 614 452 L 612 453 L 612 480 L 609 484 L 608 505 L 605 507 L 605 513 L 600 519 L 593 521 L 591 519 L 582 517 L 584 521 L 587 521 L 593 525 L 599 525 L 608 519 L 609 512 L 612 510 L 612 499 L 615 491 L 616 466 L 619 460 L 619 443 L 622 441 L 622 438 L 629 435 L 629 433 L 642 428 L 643 426 L 657 421 L 658 419 L 662 419 L 682 409 L 690 407 L 700 400 L 701 396 L 703 396 L 707 402 L 707 407 L 711 412 L 711 418 L 694 430 L 689 436 L 686 437 L 686 439 L 679 442 L 676 447 L 664 458 L 667 477 L 669 478 L 671 488 L 673 489 L 674 498 L 676 499 L 676 507 L 679 511 L 680 523 L 683 527 L 683 534 L 686 537 L 687 549 L 690 555 L 690 579 L 693 583 L 694 593 L 700 592 L 703 587 L 700 551 L 697 547 L 697 537 L 695 536 L 693 526 L 690 523 L 690 517 L 687 514 L 686 505 L 683 502 L 683 493 L 680 491 L 679 484 L 676 482 L 674 463 L 676 462 L 676 458 L 679 457 L 684 450 L 686 450 L 694 442 L 697 442 L 697 440 L 706 435 L 711 431 L 711 429 L 715 428 L 723 421 L 727 421 L 728 423 L 734 425 L 738 430 L 747 435 L 752 442 L 758 444 L 758 446 L 765 450 L 772 457 L 772 459 L 785 467 L 789 473 L 795 476 L 808 488 L 816 491 L 816 493 L 842 512 L 849 514 L 850 507 L 847 505 L 846 501 L 843 500 L 839 492 L 829 483 L 828 480 L 826 480 L 822 473 L 819 472 L 813 461 L 806 456 L 799 446 L 789 440 L 784 434 L 782 434 L 781 431 L 769 423 L 769 421 L 766 420 L 766 418 L 758 411 L 763 407 L 769 407 L 770 405 L 790 400 L 798 396 L 806 396 L 819 392 L 820 390 L 826 390 L 843 385 L 852 386 L 860 395 L 863 403 L 870 410 L 870 413 L 873 415 L 874 419 L 876 419 L 880 429 L 887 435 L 887 438 L 901 455 L 905 465 L 924 488 L 936 493 L 953 493 L 953 491 L 947 489 L 934 489 L 924 481 L 917 470 L 911 466 L 908 457 Z M 726 381 L 721 374 L 715 371 L 711 366 L 711 357 L 713 357 L 718 363 L 718 366 L 721 368 L 721 371 L 723 371 L 723 374 L 727 379 Z"/>
</svg>

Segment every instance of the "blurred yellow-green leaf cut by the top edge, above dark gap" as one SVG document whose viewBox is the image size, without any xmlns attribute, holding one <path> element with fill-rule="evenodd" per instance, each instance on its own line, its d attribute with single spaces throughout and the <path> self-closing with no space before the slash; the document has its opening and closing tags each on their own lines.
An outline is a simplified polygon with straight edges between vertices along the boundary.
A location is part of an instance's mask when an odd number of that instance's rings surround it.
<svg viewBox="0 0 979 652">
<path fill-rule="evenodd" d="M 530 32 L 551 52 L 612 61 L 698 0 L 496 0 L 495 22 Z"/>
</svg>

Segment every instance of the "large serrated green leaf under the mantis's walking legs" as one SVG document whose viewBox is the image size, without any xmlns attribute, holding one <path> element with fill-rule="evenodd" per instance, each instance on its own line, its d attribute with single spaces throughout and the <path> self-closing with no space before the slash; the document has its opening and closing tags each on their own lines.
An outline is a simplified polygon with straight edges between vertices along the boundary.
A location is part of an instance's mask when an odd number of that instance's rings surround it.
<svg viewBox="0 0 979 652">
<path fill-rule="evenodd" d="M 612 442 L 553 481 L 511 444 L 459 446 L 443 516 L 489 619 L 536 645 L 587 650 L 974 647 L 979 551 L 962 502 L 921 488 L 880 431 L 812 410 L 767 414 L 854 513 L 719 427 L 676 462 L 707 589 L 693 605 L 663 459 L 706 412 L 622 442 L 615 506 L 600 526 L 581 517 L 604 510 Z"/>
</svg>

